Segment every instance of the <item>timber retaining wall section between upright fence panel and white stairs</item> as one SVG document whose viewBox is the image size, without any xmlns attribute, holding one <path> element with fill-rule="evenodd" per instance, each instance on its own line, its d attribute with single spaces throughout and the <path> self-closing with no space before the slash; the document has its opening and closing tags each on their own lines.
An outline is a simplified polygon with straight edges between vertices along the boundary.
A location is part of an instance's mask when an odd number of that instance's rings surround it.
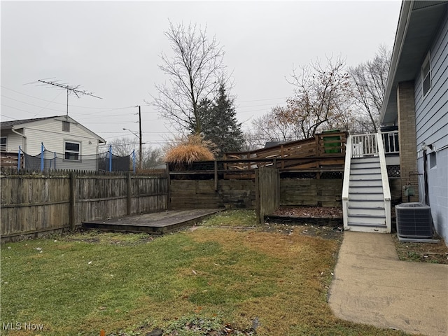
<svg viewBox="0 0 448 336">
<path fill-rule="evenodd" d="M 281 179 L 281 207 L 342 207 L 342 179 Z"/>
</svg>

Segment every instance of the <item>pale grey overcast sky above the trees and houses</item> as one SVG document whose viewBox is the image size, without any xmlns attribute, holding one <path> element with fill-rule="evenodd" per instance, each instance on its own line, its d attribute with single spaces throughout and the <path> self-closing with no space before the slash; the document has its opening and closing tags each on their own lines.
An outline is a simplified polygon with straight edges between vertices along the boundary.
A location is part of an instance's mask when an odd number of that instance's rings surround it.
<svg viewBox="0 0 448 336">
<path fill-rule="evenodd" d="M 1 1 L 1 120 L 66 114 L 66 91 L 39 86 L 60 80 L 102 97 L 69 96 L 69 116 L 111 141 L 138 132 L 158 144 L 174 129 L 144 101 L 167 77 L 169 26 L 207 25 L 233 71 L 237 117 L 251 120 L 293 94 L 293 66 L 346 57 L 347 66 L 393 47 L 401 1 Z M 31 83 L 31 84 L 28 84 Z"/>
</svg>

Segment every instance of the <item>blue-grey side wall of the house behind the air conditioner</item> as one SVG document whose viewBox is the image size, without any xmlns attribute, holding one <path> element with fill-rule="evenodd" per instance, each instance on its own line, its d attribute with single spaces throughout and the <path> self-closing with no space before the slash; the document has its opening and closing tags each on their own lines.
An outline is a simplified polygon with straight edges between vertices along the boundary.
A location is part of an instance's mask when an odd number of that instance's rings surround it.
<svg viewBox="0 0 448 336">
<path fill-rule="evenodd" d="M 434 162 L 428 160 L 428 200 L 437 233 L 448 244 L 448 14 L 432 43 L 431 89 L 423 97 L 421 71 L 415 80 L 416 148 L 419 152 L 417 168 L 419 185 L 423 187 L 424 167 L 421 146 L 433 145 Z M 422 60 L 423 62 L 423 60 Z M 432 151 L 428 151 L 428 154 Z M 430 158 L 428 158 L 430 159 Z M 425 199 L 424 188 L 419 188 L 419 200 Z"/>
</svg>

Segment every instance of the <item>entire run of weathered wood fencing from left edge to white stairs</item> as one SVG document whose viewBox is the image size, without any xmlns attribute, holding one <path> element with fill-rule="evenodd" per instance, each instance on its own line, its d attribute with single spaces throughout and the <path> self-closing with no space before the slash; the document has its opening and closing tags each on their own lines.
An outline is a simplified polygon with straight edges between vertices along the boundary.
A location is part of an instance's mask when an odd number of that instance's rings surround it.
<svg viewBox="0 0 448 336">
<path fill-rule="evenodd" d="M 341 206 L 342 178 L 333 179 L 329 172 L 320 179 L 304 177 L 314 171 L 290 173 L 274 167 L 243 172 L 254 176 L 246 179 L 225 178 L 217 169 L 197 173 L 200 179 L 192 174 L 174 179 L 182 172 L 2 174 L 1 241 L 75 229 L 83 221 L 166 209 L 255 209 L 261 222 L 281 206 Z"/>
</svg>

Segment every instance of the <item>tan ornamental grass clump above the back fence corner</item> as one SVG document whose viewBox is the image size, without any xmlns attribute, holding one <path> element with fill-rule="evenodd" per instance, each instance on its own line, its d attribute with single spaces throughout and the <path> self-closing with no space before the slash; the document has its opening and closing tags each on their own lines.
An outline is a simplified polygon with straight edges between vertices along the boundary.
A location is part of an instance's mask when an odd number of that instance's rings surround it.
<svg viewBox="0 0 448 336">
<path fill-rule="evenodd" d="M 195 161 L 215 160 L 216 146 L 211 141 L 205 141 L 200 134 L 190 135 L 176 141 L 165 155 L 165 162 L 175 166 L 192 165 Z"/>
</svg>

